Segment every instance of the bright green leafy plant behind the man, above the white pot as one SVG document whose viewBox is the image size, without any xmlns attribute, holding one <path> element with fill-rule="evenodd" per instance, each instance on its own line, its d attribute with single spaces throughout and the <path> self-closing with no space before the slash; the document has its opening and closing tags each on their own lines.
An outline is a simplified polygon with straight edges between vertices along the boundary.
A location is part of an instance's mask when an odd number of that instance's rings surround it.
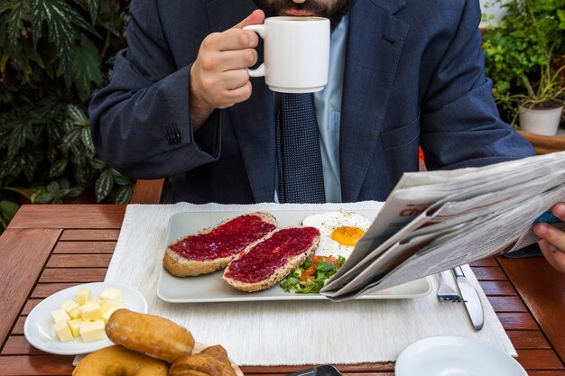
<svg viewBox="0 0 565 376">
<path fill-rule="evenodd" d="M 548 79 L 558 83 L 555 72 L 560 71 L 565 53 L 565 0 L 495 0 L 487 6 L 493 4 L 506 13 L 484 32 L 485 69 L 508 120 L 514 118 L 515 100 L 528 96 L 529 88 L 555 94 Z"/>
</svg>

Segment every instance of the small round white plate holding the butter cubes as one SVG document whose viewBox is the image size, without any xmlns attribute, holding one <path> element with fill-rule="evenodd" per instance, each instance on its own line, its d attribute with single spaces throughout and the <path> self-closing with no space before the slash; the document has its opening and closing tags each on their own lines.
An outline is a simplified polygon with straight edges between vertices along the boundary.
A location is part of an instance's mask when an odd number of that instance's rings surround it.
<svg viewBox="0 0 565 376">
<path fill-rule="evenodd" d="M 107 338 L 85 343 L 80 336 L 68 342 L 60 342 L 59 337 L 53 329 L 51 311 L 59 309 L 60 305 L 68 299 L 75 300 L 77 290 L 80 288 L 91 289 L 93 298 L 100 295 L 105 289 L 120 289 L 124 296 L 122 307 L 135 312 L 147 313 L 147 301 L 144 296 L 139 291 L 129 286 L 117 283 L 96 282 L 73 286 L 69 289 L 62 289 L 50 297 L 43 299 L 40 304 L 32 309 L 32 312 L 30 312 L 25 319 L 23 335 L 25 335 L 25 339 L 27 339 L 33 347 L 47 353 L 76 355 L 79 353 L 91 353 L 112 345 Z"/>
</svg>

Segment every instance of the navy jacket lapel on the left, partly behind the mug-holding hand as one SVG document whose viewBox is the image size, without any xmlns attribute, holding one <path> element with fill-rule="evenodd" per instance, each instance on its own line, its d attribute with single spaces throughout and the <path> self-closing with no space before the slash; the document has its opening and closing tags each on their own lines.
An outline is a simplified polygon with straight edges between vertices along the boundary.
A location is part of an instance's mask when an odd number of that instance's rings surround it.
<svg viewBox="0 0 565 376">
<path fill-rule="evenodd" d="M 208 4 L 208 20 L 212 32 L 222 32 L 243 20 L 255 9 L 255 4 L 241 0 L 217 0 Z M 263 60 L 263 49 L 257 49 Z M 273 201 L 275 170 L 275 125 L 273 92 L 264 78 L 252 78 L 253 94 L 245 102 L 227 110 L 245 162 L 247 178 L 255 202 Z"/>
</svg>

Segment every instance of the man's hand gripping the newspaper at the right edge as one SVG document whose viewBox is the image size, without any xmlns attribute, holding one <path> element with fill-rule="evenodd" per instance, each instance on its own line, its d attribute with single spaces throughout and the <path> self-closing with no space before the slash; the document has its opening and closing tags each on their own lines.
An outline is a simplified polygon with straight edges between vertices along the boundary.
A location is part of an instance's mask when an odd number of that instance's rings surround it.
<svg viewBox="0 0 565 376">
<path fill-rule="evenodd" d="M 551 213 L 565 222 L 565 202 L 555 204 Z M 534 225 L 533 232 L 542 238 L 538 244 L 547 261 L 565 273 L 565 233 L 543 222 Z"/>
</svg>

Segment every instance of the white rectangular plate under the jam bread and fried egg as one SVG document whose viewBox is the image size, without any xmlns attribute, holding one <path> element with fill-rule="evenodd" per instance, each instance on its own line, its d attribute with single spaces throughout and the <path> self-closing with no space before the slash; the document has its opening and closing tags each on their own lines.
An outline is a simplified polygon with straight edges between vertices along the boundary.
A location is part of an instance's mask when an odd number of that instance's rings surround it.
<svg viewBox="0 0 565 376">
<path fill-rule="evenodd" d="M 301 220 L 310 214 L 322 213 L 324 210 L 270 210 L 276 217 L 280 227 L 301 225 Z M 356 210 L 358 214 L 367 216 L 373 220 L 375 211 Z M 171 216 L 169 220 L 169 232 L 167 243 L 187 234 L 196 234 L 199 231 L 214 227 L 220 222 L 241 216 L 244 212 L 190 212 L 178 213 Z M 162 250 L 164 255 L 165 250 Z M 271 289 L 257 292 L 244 292 L 233 289 L 221 280 L 223 271 L 205 274 L 198 277 L 178 278 L 172 276 L 162 267 L 157 286 L 157 296 L 171 303 L 216 303 L 216 302 L 238 302 L 253 300 L 324 300 L 327 299 L 320 294 L 295 294 L 284 292 L 279 284 Z M 417 298 L 428 295 L 431 292 L 431 284 L 427 278 L 413 280 L 392 289 L 384 289 L 373 294 L 367 294 L 357 299 L 390 299 L 390 298 Z"/>
</svg>

